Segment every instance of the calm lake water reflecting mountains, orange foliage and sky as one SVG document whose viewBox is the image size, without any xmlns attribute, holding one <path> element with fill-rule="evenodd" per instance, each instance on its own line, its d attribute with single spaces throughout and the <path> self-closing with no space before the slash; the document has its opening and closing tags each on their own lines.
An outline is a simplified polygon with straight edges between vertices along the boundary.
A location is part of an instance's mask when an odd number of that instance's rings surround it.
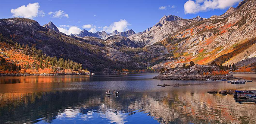
<svg viewBox="0 0 256 124">
<path fill-rule="evenodd" d="M 256 81 L 155 80 L 157 74 L 0 77 L 0 124 L 255 124 L 256 103 L 209 90 L 256 90 Z M 235 74 L 256 80 L 256 74 Z M 179 87 L 158 87 L 158 84 Z M 118 90 L 119 97 L 105 95 Z"/>
</svg>

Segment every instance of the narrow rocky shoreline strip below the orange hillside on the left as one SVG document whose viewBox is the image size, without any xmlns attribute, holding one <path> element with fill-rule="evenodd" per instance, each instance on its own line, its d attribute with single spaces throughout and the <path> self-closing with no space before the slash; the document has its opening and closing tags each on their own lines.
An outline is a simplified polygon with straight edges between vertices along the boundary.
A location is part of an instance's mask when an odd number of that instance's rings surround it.
<svg viewBox="0 0 256 124">
<path fill-rule="evenodd" d="M 94 75 L 95 73 L 54 73 L 54 74 L 28 74 L 28 73 L 6 73 L 0 76 L 59 76 L 59 75 Z"/>
</svg>

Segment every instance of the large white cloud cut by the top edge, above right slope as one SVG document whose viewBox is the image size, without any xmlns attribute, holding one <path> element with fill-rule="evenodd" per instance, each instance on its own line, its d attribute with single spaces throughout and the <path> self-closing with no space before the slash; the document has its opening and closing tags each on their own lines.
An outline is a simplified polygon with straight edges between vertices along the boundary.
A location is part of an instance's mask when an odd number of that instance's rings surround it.
<svg viewBox="0 0 256 124">
<path fill-rule="evenodd" d="M 184 4 L 185 14 L 195 14 L 214 9 L 225 9 L 233 6 L 241 0 L 188 0 Z"/>
</svg>

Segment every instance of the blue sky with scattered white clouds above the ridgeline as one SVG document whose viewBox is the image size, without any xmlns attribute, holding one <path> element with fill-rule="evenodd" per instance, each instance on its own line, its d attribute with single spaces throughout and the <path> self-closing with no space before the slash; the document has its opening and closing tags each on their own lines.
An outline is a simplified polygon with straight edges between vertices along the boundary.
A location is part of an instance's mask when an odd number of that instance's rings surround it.
<svg viewBox="0 0 256 124">
<path fill-rule="evenodd" d="M 66 34 L 82 29 L 93 32 L 133 29 L 141 32 L 155 25 L 164 15 L 176 15 L 184 19 L 197 15 L 209 18 L 225 13 L 230 6 L 236 7 L 240 1 L 1 0 L 0 18 L 27 17 L 36 20 L 40 25 L 51 21 Z M 31 12 L 26 8 L 29 3 Z M 21 7 L 23 5 L 25 6 Z"/>
</svg>

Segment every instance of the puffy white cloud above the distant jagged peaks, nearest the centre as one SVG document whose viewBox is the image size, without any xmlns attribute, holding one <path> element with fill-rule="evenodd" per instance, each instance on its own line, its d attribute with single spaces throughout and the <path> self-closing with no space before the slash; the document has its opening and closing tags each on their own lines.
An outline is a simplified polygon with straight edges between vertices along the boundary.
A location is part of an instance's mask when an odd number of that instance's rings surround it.
<svg viewBox="0 0 256 124">
<path fill-rule="evenodd" d="M 120 19 L 118 22 L 113 22 L 109 26 L 104 26 L 103 30 L 107 33 L 112 33 L 113 31 L 117 30 L 118 32 L 123 32 L 128 30 L 128 26 L 131 25 L 127 22 L 127 20 Z"/>
</svg>

